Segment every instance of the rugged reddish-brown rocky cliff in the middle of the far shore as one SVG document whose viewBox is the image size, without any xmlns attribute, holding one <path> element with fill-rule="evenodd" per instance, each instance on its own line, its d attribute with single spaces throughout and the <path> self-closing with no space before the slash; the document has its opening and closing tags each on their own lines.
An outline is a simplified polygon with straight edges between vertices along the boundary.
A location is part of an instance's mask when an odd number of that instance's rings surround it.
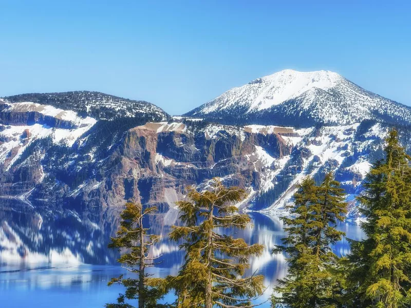
<svg viewBox="0 0 411 308">
<path fill-rule="evenodd" d="M 290 155 L 291 145 L 280 136 L 272 138 L 275 147 L 268 148 L 278 160 Z M 96 165 L 96 176 L 64 199 L 70 204 L 99 207 L 137 200 L 165 210 L 183 198 L 187 186 L 206 187 L 214 177 L 227 185 L 258 190 L 267 165 L 256 153 L 256 143 L 264 143 L 264 139 L 262 134 L 223 127 L 207 136 L 182 123 L 147 123 L 128 130 L 105 163 Z"/>
</svg>

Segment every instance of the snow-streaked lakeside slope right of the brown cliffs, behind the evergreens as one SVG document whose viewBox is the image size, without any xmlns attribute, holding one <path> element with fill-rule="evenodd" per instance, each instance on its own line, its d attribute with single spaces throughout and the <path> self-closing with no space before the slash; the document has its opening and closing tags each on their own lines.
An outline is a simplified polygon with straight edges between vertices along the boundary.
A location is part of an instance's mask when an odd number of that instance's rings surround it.
<svg viewBox="0 0 411 308">
<path fill-rule="evenodd" d="M 313 177 L 319 184 L 326 172 L 333 171 L 341 182 L 349 204 L 348 217 L 358 218 L 358 203 L 355 197 L 362 189 L 373 162 L 383 158 L 385 137 L 390 126 L 383 123 L 364 121 L 345 126 L 323 126 L 300 130 L 301 141 L 291 153 L 285 172 L 275 179 L 271 191 L 262 192 L 254 199 L 251 208 L 270 214 L 286 213 L 285 206 L 292 204 L 297 184 L 306 176 Z M 404 128 L 403 128 L 404 129 Z M 403 145 L 410 151 L 409 127 L 400 129 Z M 286 185 L 284 185 L 286 183 Z M 281 185 L 280 185 L 281 184 Z"/>
</svg>

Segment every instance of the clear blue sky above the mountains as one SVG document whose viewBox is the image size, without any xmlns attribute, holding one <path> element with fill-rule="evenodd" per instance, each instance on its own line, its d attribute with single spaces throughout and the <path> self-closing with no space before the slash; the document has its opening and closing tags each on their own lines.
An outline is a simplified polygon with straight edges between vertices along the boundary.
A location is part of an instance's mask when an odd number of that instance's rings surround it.
<svg viewBox="0 0 411 308">
<path fill-rule="evenodd" d="M 331 70 L 411 105 L 411 1 L 0 0 L 0 97 L 96 90 L 172 114 Z"/>
</svg>

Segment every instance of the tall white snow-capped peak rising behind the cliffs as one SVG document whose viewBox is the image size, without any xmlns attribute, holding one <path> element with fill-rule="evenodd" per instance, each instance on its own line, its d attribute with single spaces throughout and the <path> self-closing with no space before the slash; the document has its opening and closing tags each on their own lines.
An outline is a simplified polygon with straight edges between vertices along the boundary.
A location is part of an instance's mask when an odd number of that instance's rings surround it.
<svg viewBox="0 0 411 308">
<path fill-rule="evenodd" d="M 186 115 L 274 125 L 411 123 L 411 108 L 330 71 L 283 70 L 233 88 Z"/>
</svg>

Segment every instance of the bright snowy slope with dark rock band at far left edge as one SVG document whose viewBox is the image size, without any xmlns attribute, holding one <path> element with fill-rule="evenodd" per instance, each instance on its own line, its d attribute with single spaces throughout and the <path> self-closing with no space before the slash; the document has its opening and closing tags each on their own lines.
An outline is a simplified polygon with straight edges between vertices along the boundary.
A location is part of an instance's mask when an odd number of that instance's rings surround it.
<svg viewBox="0 0 411 308">
<path fill-rule="evenodd" d="M 46 150 L 71 148 L 97 120 L 71 110 L 0 100 L 0 195 L 25 199 L 46 175 Z M 59 162 L 54 162 L 58 164 Z"/>
</svg>

